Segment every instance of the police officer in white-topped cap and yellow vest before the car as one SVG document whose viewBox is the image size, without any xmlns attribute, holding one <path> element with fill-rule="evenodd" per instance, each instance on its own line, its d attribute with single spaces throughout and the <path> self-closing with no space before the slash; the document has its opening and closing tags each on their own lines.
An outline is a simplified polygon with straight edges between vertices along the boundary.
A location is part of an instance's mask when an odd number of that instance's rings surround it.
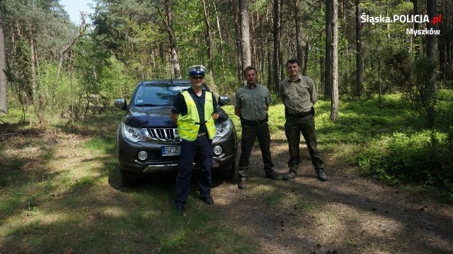
<svg viewBox="0 0 453 254">
<path fill-rule="evenodd" d="M 200 198 L 208 205 L 212 187 L 212 138 L 215 135 L 214 121 L 219 117 L 219 104 L 212 92 L 202 90 L 206 68 L 190 66 L 188 75 L 192 86 L 178 93 L 171 109 L 171 120 L 178 126 L 182 139 L 178 176 L 176 177 L 175 211 L 183 214 L 190 193 L 195 155 L 200 164 Z"/>
</svg>

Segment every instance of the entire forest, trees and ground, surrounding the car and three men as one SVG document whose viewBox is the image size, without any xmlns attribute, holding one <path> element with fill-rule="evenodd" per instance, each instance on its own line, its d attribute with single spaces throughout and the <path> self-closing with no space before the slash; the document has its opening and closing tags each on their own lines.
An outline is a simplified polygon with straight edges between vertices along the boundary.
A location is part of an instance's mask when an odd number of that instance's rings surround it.
<svg viewBox="0 0 453 254">
<path fill-rule="evenodd" d="M 0 253 L 453 253 L 452 0 L 92 2 L 73 23 L 0 0 Z M 113 102 L 197 64 L 231 98 L 258 68 L 287 173 L 288 59 L 316 85 L 328 181 L 302 141 L 299 178 L 266 179 L 256 146 L 246 189 L 214 178 L 208 206 L 194 176 L 183 217 L 176 172 L 121 186 Z"/>
</svg>

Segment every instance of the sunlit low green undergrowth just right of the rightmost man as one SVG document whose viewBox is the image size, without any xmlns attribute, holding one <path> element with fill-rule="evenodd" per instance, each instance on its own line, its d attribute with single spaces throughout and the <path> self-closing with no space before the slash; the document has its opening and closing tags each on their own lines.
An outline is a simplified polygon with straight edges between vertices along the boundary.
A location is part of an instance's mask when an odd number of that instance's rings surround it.
<svg viewBox="0 0 453 254">
<path fill-rule="evenodd" d="M 401 95 L 386 95 L 369 100 L 340 102 L 340 117 L 336 123 L 330 120 L 330 102 L 316 102 L 316 128 L 323 143 L 364 144 L 374 138 L 407 131 L 411 128 L 425 128 L 425 121 L 411 110 L 411 104 Z"/>
</svg>

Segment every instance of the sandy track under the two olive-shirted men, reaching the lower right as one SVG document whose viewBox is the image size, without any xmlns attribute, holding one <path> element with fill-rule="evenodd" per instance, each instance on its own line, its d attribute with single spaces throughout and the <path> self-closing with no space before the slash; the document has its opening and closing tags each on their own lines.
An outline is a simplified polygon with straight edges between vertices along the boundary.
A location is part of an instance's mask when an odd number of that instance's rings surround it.
<svg viewBox="0 0 453 254">
<path fill-rule="evenodd" d="M 275 170 L 285 174 L 287 145 L 271 150 Z M 213 209 L 260 246 L 258 253 L 453 253 L 452 205 L 358 176 L 328 155 L 328 181 L 321 182 L 303 157 L 299 178 L 272 181 L 265 179 L 255 147 L 246 189 L 237 188 L 237 176 L 214 184 Z"/>
</svg>

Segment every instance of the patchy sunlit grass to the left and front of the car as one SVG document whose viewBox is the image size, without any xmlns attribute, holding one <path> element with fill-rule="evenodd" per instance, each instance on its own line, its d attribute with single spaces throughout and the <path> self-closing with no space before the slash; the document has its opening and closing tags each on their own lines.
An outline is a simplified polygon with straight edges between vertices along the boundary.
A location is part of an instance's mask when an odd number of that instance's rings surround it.
<svg viewBox="0 0 453 254">
<path fill-rule="evenodd" d="M 253 253 L 193 197 L 200 212 L 189 221 L 177 217 L 173 186 L 119 186 L 120 117 L 72 130 L 56 122 L 39 137 L 24 133 L 1 143 L 0 253 Z"/>
</svg>

